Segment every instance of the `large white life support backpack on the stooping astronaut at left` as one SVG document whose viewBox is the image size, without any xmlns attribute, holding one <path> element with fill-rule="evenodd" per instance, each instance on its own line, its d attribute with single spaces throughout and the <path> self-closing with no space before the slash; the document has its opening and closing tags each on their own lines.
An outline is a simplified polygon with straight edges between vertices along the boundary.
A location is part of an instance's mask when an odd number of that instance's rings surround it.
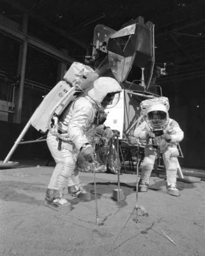
<svg viewBox="0 0 205 256">
<path fill-rule="evenodd" d="M 98 77 L 99 75 L 94 69 L 74 62 L 65 73 L 64 80 L 53 87 L 33 113 L 30 120 L 31 125 L 42 133 L 46 133 L 47 130 L 51 131 L 52 119 L 56 123 L 58 116 L 63 113 L 70 102 L 82 95 L 90 83 L 93 83 Z"/>
</svg>

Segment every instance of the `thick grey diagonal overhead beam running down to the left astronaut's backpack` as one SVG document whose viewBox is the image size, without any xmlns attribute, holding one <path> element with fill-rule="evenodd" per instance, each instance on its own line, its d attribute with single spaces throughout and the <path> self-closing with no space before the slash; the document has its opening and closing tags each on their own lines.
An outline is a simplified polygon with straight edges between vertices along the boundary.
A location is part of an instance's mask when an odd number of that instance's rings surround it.
<svg viewBox="0 0 205 256">
<path fill-rule="evenodd" d="M 58 59 L 63 63 L 73 63 L 76 61 L 75 59 L 72 59 L 65 53 L 61 53 L 61 51 L 54 48 L 53 46 L 50 46 L 45 42 L 39 41 L 38 39 L 35 39 L 35 37 L 26 35 L 20 30 L 15 30 L 14 28 L 11 28 L 10 26 L 7 26 L 6 24 L 1 22 L 0 22 L 0 31 L 6 33 L 8 36 L 12 35 L 17 40 L 20 39 L 20 41 L 27 42 L 28 44 L 30 44 L 30 46 L 33 46 L 35 48 L 38 48 L 39 50 L 44 51 L 44 53 L 46 53 L 47 55 L 51 55 L 55 57 L 55 59 Z"/>
</svg>

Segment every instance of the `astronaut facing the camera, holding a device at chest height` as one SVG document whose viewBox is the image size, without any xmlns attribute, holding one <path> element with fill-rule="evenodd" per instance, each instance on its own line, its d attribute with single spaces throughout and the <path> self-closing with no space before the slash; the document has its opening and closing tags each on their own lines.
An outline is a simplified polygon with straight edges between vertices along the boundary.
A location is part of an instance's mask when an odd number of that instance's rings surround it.
<svg viewBox="0 0 205 256">
<path fill-rule="evenodd" d="M 177 143 L 183 140 L 184 133 L 179 124 L 169 118 L 167 107 L 161 102 L 149 105 L 147 117 L 136 127 L 134 136 L 139 140 L 145 140 L 145 157 L 138 191 L 147 192 L 154 161 L 161 154 L 167 172 L 167 193 L 179 196 L 176 187 L 177 156 L 179 156 Z"/>
</svg>

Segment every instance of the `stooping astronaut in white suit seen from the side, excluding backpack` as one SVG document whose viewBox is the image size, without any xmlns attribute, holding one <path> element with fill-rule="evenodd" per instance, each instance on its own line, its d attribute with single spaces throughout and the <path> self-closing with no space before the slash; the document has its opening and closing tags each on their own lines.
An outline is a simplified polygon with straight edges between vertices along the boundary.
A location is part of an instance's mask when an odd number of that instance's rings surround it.
<svg viewBox="0 0 205 256">
<path fill-rule="evenodd" d="M 69 104 L 63 112 L 58 129 L 60 133 L 69 134 L 69 141 L 59 140 L 51 132 L 47 135 L 47 145 L 51 151 L 56 167 L 47 187 L 45 200 L 49 205 L 59 207 L 68 203 L 63 198 L 63 188 L 67 187 L 70 177 L 81 190 L 76 161 L 79 152 L 88 161 L 94 159 L 94 149 L 91 145 L 99 109 L 111 104 L 116 93 L 122 91 L 117 80 L 110 77 L 100 77 L 86 89 L 85 95 L 79 96 Z M 76 177 L 76 179 L 75 179 Z M 80 192 L 83 192 L 82 190 Z"/>
</svg>

